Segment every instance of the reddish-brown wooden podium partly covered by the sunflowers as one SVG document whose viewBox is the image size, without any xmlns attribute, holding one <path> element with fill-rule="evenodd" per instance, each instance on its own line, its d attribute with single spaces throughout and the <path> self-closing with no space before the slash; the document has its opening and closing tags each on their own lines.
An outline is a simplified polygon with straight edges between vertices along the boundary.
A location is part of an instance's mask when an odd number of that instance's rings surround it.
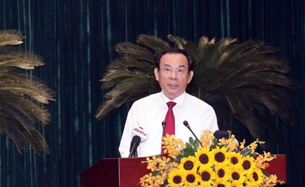
<svg viewBox="0 0 305 187">
<path fill-rule="evenodd" d="M 101 159 L 81 174 L 81 187 L 141 187 L 140 178 L 150 173 L 146 157 Z M 265 170 L 286 183 L 286 157 L 276 155 Z"/>
</svg>

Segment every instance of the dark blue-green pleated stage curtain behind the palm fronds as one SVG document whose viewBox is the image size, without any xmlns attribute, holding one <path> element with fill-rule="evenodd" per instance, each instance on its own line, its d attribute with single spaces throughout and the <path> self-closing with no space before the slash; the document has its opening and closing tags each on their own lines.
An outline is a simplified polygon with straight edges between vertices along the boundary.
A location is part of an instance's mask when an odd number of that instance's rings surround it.
<svg viewBox="0 0 305 187">
<path fill-rule="evenodd" d="M 50 125 L 39 131 L 51 154 L 20 155 L 7 135 L 0 136 L 1 187 L 79 187 L 80 174 L 101 158 L 119 157 L 124 105 L 101 121 L 104 101 L 99 80 L 115 44 L 135 43 L 138 34 L 168 34 L 196 42 L 209 38 L 260 39 L 281 49 L 291 62 L 290 77 L 301 87 L 289 92 L 298 123 L 283 125 L 280 150 L 265 131 L 273 153 L 287 156 L 287 187 L 305 184 L 305 2 L 303 0 L 0 0 L 0 30 L 17 29 L 27 39 L 21 50 L 43 57 L 45 66 L 28 73 L 57 93 L 48 105 Z M 240 128 L 240 136 L 248 132 Z M 252 139 L 248 140 L 248 142 Z"/>
</svg>

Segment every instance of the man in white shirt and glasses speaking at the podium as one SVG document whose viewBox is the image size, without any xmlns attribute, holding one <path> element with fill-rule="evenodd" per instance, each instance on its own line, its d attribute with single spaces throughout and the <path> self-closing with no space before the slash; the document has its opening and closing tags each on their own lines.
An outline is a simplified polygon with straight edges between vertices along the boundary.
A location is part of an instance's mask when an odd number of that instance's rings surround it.
<svg viewBox="0 0 305 187">
<path fill-rule="evenodd" d="M 155 60 L 154 75 L 162 89 L 160 93 L 152 94 L 133 103 L 130 108 L 119 151 L 122 157 L 128 157 L 132 130 L 143 129 L 148 133 L 147 140 L 142 141 L 137 149 L 138 157 L 147 157 L 161 153 L 164 121 L 168 106 L 172 101 L 176 105 L 174 113 L 174 131 L 176 138 L 188 142 L 193 137 L 183 125 L 187 121 L 198 138 L 204 130 L 218 130 L 216 115 L 213 108 L 204 101 L 185 92 L 187 84 L 192 80 L 194 64 L 184 50 L 167 49 L 160 53 Z M 168 128 L 168 124 L 166 125 Z M 193 137 L 194 138 L 194 137 Z"/>
</svg>

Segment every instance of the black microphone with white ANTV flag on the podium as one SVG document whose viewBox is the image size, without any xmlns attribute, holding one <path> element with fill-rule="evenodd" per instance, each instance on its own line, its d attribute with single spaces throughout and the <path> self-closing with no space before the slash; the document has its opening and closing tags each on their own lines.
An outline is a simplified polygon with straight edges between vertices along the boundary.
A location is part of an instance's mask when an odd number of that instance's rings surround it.
<svg viewBox="0 0 305 187">
<path fill-rule="evenodd" d="M 140 142 L 147 140 L 149 134 L 145 133 L 141 127 L 135 127 L 132 130 L 132 140 L 130 143 L 129 156 L 138 157 L 137 149 Z"/>
</svg>

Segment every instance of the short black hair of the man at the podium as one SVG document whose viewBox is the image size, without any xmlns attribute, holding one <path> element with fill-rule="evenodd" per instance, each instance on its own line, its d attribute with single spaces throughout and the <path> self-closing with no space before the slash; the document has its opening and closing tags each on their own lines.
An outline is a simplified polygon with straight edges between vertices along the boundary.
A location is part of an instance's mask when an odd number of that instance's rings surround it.
<svg viewBox="0 0 305 187">
<path fill-rule="evenodd" d="M 183 54 L 187 58 L 187 61 L 188 61 L 188 72 L 194 70 L 195 64 L 193 63 L 191 57 L 187 54 L 186 51 L 184 51 L 182 49 L 178 49 L 178 48 L 169 48 L 169 49 L 162 51 L 161 53 L 158 53 L 154 60 L 155 67 L 160 69 L 160 59 L 164 54 L 173 54 L 173 53 L 174 54 Z"/>
</svg>

